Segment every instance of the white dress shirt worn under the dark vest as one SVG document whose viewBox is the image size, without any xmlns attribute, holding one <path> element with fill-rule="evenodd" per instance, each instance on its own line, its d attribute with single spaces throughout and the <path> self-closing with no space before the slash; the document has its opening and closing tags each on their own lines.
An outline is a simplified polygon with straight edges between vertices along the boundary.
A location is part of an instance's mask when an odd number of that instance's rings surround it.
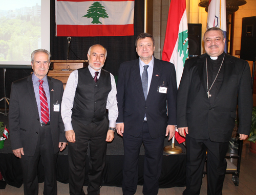
<svg viewBox="0 0 256 195">
<path fill-rule="evenodd" d="M 88 66 L 92 77 L 94 78 L 96 70 L 94 70 L 90 65 Z M 101 69 L 97 70 L 99 72 L 97 79 L 100 77 Z M 118 108 L 116 101 L 116 82 L 114 76 L 110 73 L 111 78 L 111 91 L 108 95 L 108 99 L 106 102 L 106 109 L 109 110 L 109 121 L 110 127 L 116 127 L 116 119 L 118 116 Z M 78 84 L 78 70 L 74 70 L 71 72 L 66 88 L 63 93 L 62 103 L 61 103 L 61 116 L 65 126 L 65 131 L 73 130 L 71 124 L 71 116 L 72 116 L 72 108 L 74 103 L 74 97 L 76 93 L 76 87 Z"/>
</svg>

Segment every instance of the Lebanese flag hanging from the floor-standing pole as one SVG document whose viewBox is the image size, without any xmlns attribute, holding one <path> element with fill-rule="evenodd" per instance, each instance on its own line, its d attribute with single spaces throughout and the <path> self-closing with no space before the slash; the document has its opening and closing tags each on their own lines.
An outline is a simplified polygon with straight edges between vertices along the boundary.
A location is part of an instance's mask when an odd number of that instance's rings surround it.
<svg viewBox="0 0 256 195">
<path fill-rule="evenodd" d="M 178 87 L 180 85 L 185 60 L 188 59 L 187 40 L 186 1 L 172 0 L 170 1 L 162 60 L 174 64 Z M 177 129 L 175 138 L 179 143 L 185 141 L 185 138 L 180 136 Z"/>
</svg>

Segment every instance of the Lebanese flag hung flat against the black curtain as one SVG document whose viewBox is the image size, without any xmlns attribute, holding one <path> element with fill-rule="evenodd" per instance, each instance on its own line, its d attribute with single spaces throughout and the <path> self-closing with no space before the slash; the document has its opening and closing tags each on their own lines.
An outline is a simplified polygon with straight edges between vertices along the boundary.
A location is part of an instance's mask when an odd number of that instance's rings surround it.
<svg viewBox="0 0 256 195">
<path fill-rule="evenodd" d="M 55 0 L 56 36 L 134 35 L 134 0 Z"/>
</svg>

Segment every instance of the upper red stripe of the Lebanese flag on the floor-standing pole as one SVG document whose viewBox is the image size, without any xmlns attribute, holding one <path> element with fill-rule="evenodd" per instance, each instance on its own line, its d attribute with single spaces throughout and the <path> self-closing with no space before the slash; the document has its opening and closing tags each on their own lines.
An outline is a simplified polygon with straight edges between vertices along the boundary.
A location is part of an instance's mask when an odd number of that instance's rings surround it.
<svg viewBox="0 0 256 195">
<path fill-rule="evenodd" d="M 186 9 L 185 0 L 170 1 L 162 60 L 169 62 L 179 35 L 180 20 Z"/>
</svg>

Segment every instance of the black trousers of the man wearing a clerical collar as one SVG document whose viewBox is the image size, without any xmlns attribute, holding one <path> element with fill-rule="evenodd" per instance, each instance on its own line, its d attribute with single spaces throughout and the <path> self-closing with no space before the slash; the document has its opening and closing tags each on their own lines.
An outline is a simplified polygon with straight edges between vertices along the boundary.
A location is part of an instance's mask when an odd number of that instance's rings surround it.
<svg viewBox="0 0 256 195">
<path fill-rule="evenodd" d="M 195 139 L 186 135 L 186 189 L 183 194 L 200 194 L 207 149 L 207 194 L 221 195 L 227 162 L 228 142 Z"/>
</svg>

